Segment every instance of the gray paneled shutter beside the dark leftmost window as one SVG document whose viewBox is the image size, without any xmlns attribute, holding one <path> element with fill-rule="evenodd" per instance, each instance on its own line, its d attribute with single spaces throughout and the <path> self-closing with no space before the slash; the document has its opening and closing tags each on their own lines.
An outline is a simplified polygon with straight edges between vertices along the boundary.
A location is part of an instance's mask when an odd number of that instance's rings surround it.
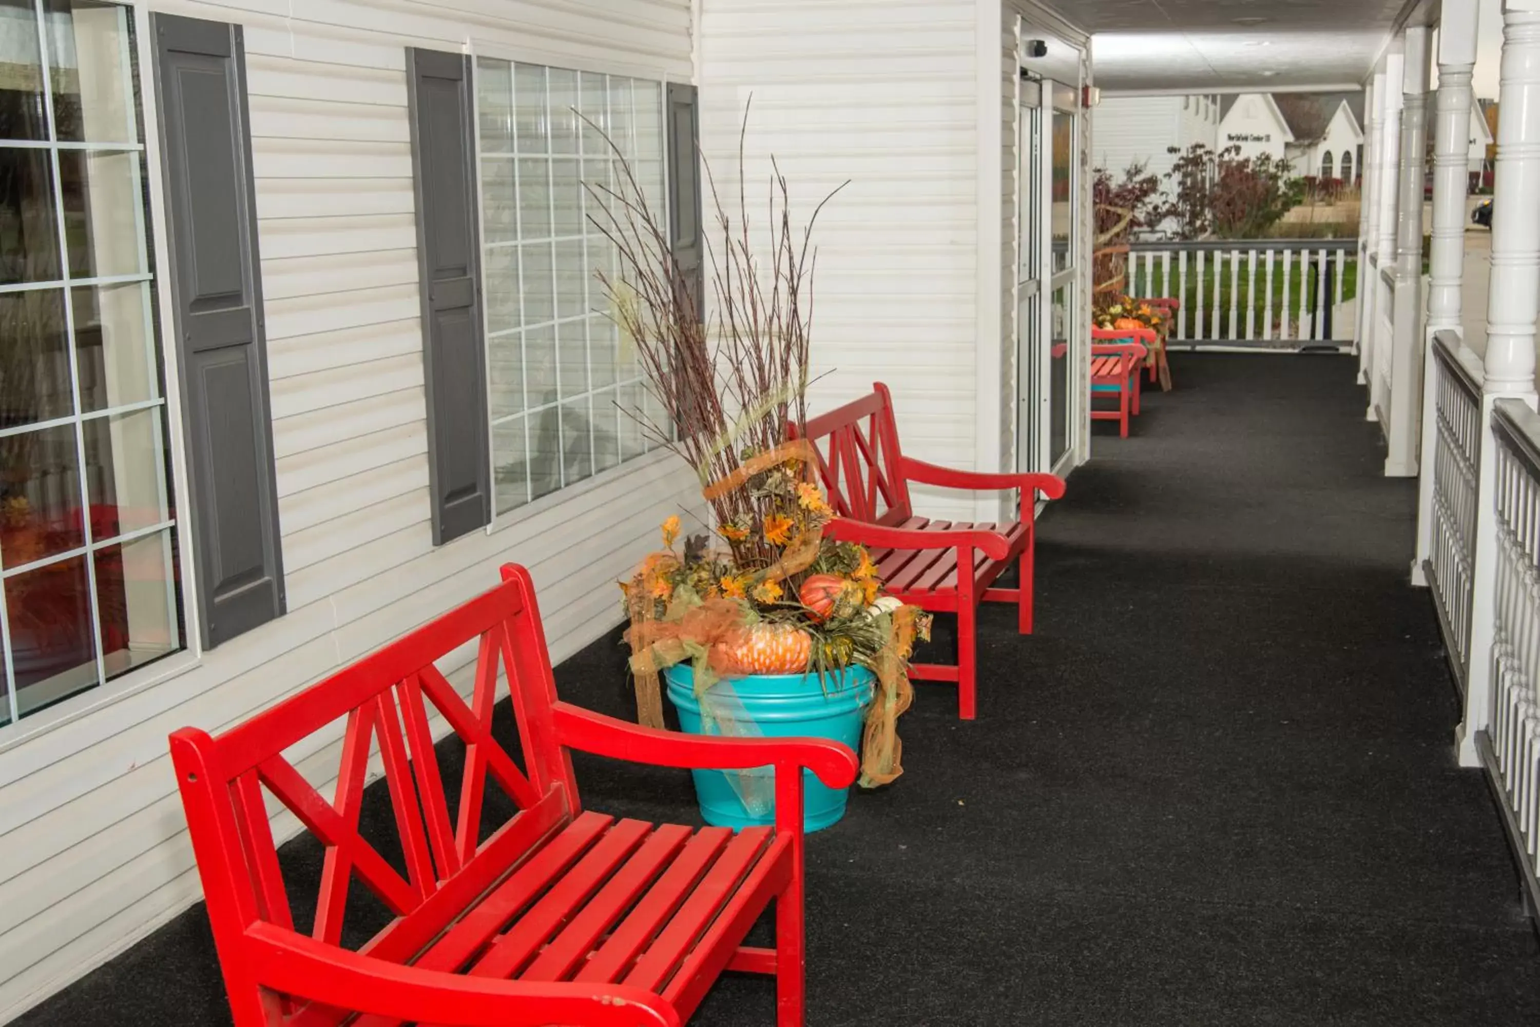
<svg viewBox="0 0 1540 1027">
<path fill-rule="evenodd" d="M 283 613 L 239 25 L 154 15 L 197 605 L 213 648 Z"/>
</svg>

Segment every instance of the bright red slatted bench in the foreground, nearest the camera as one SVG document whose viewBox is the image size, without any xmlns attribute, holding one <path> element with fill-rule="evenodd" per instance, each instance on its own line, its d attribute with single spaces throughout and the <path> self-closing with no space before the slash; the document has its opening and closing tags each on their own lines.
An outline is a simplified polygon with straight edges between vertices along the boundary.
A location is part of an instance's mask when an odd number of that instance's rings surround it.
<svg viewBox="0 0 1540 1027">
<path fill-rule="evenodd" d="M 847 787 L 855 754 L 821 739 L 658 731 L 557 701 L 528 573 L 502 574 L 500 587 L 217 738 L 171 736 L 236 1027 L 671 1025 L 722 970 L 775 975 L 776 1022 L 799 1027 L 802 768 Z M 465 644 L 479 653 L 468 705 L 434 667 Z M 491 734 L 499 665 L 522 762 Z M 454 810 L 430 704 L 465 742 Z M 285 750 L 340 718 L 326 801 Z M 405 873 L 359 833 L 373 747 Z M 665 767 L 772 765 L 776 824 L 733 835 L 585 811 L 568 750 Z M 517 808 L 477 841 L 490 787 Z M 326 847 L 308 932 L 291 915 L 265 791 Z M 393 919 L 350 950 L 339 939 L 354 876 Z M 744 947 L 772 899 L 776 947 Z"/>
</svg>

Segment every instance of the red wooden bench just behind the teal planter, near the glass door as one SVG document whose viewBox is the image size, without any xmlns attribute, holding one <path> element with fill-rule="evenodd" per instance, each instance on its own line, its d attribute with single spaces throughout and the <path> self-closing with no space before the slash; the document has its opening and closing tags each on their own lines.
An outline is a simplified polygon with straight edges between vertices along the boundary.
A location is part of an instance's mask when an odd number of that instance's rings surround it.
<svg viewBox="0 0 1540 1027">
<path fill-rule="evenodd" d="M 1053 474 L 981 474 L 955 471 L 904 456 L 898 447 L 893 397 L 878 382 L 872 394 L 807 422 L 818 450 L 818 470 L 839 516 L 829 534 L 859 542 L 881 568 L 887 590 L 922 610 L 958 614 L 958 662 L 915 664 L 921 681 L 955 681 L 958 711 L 972 721 L 976 702 L 975 622 L 978 604 L 1016 604 L 1021 634 L 1032 633 L 1032 550 L 1036 494 L 1058 499 L 1064 480 Z M 796 434 L 795 425 L 792 427 Z M 916 517 L 909 485 L 966 490 L 1019 490 L 1016 520 L 953 524 Z M 1016 588 L 995 579 L 1018 565 Z M 966 568 L 958 573 L 958 568 Z"/>
</svg>

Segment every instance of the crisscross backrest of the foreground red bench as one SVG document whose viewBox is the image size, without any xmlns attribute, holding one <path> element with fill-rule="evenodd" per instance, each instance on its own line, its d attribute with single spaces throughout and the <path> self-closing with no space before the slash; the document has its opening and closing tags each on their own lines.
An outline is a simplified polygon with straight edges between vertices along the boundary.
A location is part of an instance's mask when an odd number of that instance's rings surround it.
<svg viewBox="0 0 1540 1027">
<path fill-rule="evenodd" d="M 470 642 L 477 656 L 467 705 L 434 661 Z M 491 736 L 499 670 L 513 696 L 522 767 Z M 172 762 L 226 972 L 233 961 L 239 965 L 248 924 L 294 927 L 263 793 L 326 845 L 311 933 L 339 944 L 350 881 L 357 876 L 394 915 L 363 950 L 400 962 L 422 952 L 521 851 L 576 815 L 571 762 L 551 722 L 554 701 L 528 573 L 505 567 L 497 588 L 239 727 L 217 738 L 196 728 L 174 733 Z M 465 742 L 453 811 L 433 748 L 430 705 Z M 285 750 L 343 718 L 336 798 L 328 801 Z M 374 753 L 383 764 L 405 876 L 359 836 Z M 488 778 L 517 811 L 480 841 Z"/>
</svg>

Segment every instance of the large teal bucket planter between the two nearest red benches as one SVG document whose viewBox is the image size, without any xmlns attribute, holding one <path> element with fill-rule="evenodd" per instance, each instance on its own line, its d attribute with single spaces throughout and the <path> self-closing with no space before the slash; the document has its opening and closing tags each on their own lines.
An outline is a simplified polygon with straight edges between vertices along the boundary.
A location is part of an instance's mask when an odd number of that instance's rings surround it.
<svg viewBox="0 0 1540 1027">
<path fill-rule="evenodd" d="M 679 711 L 679 727 L 687 734 L 718 734 L 707 731 L 701 721 L 701 704 L 695 697 L 695 673 L 688 664 L 678 664 L 664 671 L 668 681 L 668 697 Z M 822 681 L 818 674 L 755 674 L 733 677 L 732 687 L 738 704 L 753 718 L 755 733 L 764 738 L 827 738 L 844 742 L 861 751 L 861 725 L 865 721 L 867 704 L 876 676 L 865 667 L 847 667 Z M 695 795 L 701 801 L 701 816 L 715 827 L 762 827 L 775 824 L 773 785 L 770 768 L 762 771 L 762 782 L 755 791 L 764 791 L 768 801 L 762 810 L 750 810 L 733 787 L 732 778 L 721 770 L 691 770 Z M 819 831 L 845 815 L 849 788 L 829 788 L 802 771 L 802 830 Z"/>
</svg>

